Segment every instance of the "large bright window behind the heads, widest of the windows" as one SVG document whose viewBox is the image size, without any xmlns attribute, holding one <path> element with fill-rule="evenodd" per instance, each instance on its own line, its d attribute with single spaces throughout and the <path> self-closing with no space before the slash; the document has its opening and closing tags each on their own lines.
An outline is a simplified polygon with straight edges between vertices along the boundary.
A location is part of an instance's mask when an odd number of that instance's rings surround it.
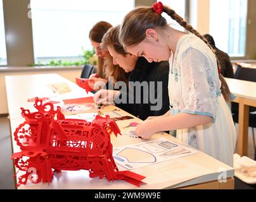
<svg viewBox="0 0 256 202">
<path fill-rule="evenodd" d="M 134 0 L 31 0 L 35 62 L 78 59 L 91 50 L 89 30 L 98 21 L 113 26 L 134 8 Z"/>
</svg>

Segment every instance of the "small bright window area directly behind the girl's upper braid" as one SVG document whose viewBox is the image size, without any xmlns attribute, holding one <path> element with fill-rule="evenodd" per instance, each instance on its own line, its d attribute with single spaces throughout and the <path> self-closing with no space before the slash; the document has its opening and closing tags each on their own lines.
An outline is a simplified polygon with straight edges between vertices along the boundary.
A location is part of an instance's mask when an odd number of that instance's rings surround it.
<svg viewBox="0 0 256 202">
<path fill-rule="evenodd" d="M 176 13 L 181 16 L 183 19 L 186 19 L 186 0 L 161 0 L 163 5 L 169 6 L 170 8 L 174 9 Z M 184 30 L 175 20 L 172 20 L 170 16 L 163 13 L 163 17 L 167 20 L 167 23 L 170 24 L 171 27 L 176 28 L 177 30 Z"/>
</svg>

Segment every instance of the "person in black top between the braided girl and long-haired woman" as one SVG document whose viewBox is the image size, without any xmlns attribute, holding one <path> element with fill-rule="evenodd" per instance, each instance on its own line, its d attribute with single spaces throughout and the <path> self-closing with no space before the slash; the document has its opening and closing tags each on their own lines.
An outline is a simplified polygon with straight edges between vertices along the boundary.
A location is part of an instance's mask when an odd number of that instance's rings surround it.
<svg viewBox="0 0 256 202">
<path fill-rule="evenodd" d="M 96 103 L 114 101 L 117 107 L 142 120 L 149 116 L 161 116 L 169 110 L 169 62 L 148 62 L 144 57 L 125 52 L 118 42 L 118 27 L 110 28 L 105 33 L 101 47 L 108 49 L 113 64 L 118 64 L 129 73 L 129 88 L 99 90 L 94 95 Z M 148 86 L 148 89 L 143 90 L 141 85 Z M 118 102 L 120 100 L 121 103 Z"/>
</svg>

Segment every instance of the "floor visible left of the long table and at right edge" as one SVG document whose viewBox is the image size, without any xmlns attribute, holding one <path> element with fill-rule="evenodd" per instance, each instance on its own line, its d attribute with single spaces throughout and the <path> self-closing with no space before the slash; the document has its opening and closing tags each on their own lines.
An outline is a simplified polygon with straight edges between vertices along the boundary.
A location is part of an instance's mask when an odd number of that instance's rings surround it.
<svg viewBox="0 0 256 202">
<path fill-rule="evenodd" d="M 238 131 L 238 124 L 236 124 Z M 256 129 L 255 129 L 256 134 Z M 248 157 L 254 158 L 254 148 L 252 139 L 252 128 L 248 133 Z M 11 157 L 11 138 L 10 138 L 10 122 L 8 117 L 0 116 L 0 189 L 14 189 L 15 184 L 13 177 L 13 164 Z M 236 186 L 236 184 L 235 184 Z M 241 187 L 239 187 L 241 189 Z"/>
</svg>

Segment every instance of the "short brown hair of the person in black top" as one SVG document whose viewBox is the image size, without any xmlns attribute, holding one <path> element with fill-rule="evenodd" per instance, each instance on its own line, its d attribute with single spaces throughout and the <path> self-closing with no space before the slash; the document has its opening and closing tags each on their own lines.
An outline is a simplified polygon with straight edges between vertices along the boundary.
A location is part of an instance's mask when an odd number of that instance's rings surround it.
<svg viewBox="0 0 256 202">
<path fill-rule="evenodd" d="M 122 54 L 126 56 L 126 52 L 122 44 L 120 44 L 118 39 L 119 34 L 119 25 L 117 27 L 112 27 L 105 33 L 103 39 L 101 41 L 102 49 L 107 49 L 108 46 L 113 47 L 113 49 L 118 52 L 118 54 Z"/>
</svg>

